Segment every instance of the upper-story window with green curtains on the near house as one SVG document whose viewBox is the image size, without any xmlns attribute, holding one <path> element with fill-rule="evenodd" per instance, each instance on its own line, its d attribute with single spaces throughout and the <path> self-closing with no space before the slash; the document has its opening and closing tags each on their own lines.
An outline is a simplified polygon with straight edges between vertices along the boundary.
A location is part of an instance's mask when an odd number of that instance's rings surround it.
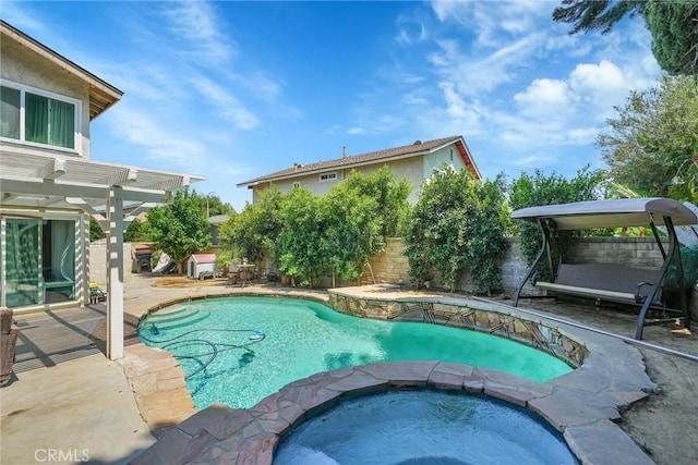
<svg viewBox="0 0 698 465">
<path fill-rule="evenodd" d="M 80 103 L 68 97 L 3 83 L 0 137 L 75 149 Z"/>
</svg>

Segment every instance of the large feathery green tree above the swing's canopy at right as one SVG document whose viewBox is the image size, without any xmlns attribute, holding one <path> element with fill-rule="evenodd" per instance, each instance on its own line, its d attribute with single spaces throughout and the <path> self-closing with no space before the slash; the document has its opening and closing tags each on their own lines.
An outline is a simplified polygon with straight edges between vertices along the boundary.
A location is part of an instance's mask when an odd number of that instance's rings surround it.
<svg viewBox="0 0 698 465">
<path fill-rule="evenodd" d="M 664 76 L 633 91 L 597 139 L 611 178 L 651 196 L 698 201 L 698 83 Z"/>
</svg>

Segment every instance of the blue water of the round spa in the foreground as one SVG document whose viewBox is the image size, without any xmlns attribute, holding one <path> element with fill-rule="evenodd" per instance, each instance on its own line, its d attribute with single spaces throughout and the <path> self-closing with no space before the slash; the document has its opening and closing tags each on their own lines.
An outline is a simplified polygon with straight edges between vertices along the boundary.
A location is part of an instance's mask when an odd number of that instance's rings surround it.
<svg viewBox="0 0 698 465">
<path fill-rule="evenodd" d="M 275 465 L 577 464 L 534 414 L 490 397 L 395 391 L 356 397 L 301 423 Z"/>
</svg>

